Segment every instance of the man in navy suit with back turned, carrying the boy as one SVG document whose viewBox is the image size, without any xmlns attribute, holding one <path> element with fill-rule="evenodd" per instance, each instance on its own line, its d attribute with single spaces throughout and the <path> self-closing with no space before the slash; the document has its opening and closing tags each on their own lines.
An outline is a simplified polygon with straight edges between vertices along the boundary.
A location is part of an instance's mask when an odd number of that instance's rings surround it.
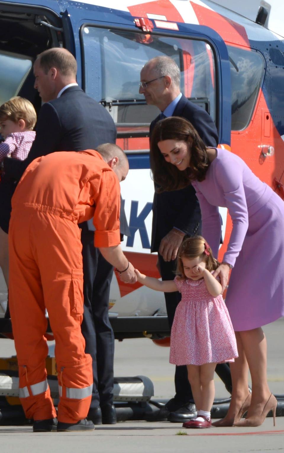
<svg viewBox="0 0 284 453">
<path fill-rule="evenodd" d="M 78 86 L 76 72 L 76 60 L 66 49 L 52 48 L 38 56 L 34 63 L 34 87 L 44 104 L 39 112 L 36 138 L 26 160 L 5 159 L 6 177 L 19 181 L 30 162 L 54 151 L 82 151 L 96 149 L 104 143 L 115 143 L 117 133 L 113 119 L 103 106 Z M 5 215 L 9 218 L 8 211 Z M 120 221 L 121 233 L 127 234 L 123 208 Z M 88 222 L 79 226 L 82 229 L 84 275 L 81 328 L 86 340 L 85 350 L 93 358 L 93 394 L 89 415 L 95 424 L 102 421 L 115 423 L 114 336 L 108 319 L 113 267 L 93 246 L 93 226 L 89 226 Z"/>
</svg>

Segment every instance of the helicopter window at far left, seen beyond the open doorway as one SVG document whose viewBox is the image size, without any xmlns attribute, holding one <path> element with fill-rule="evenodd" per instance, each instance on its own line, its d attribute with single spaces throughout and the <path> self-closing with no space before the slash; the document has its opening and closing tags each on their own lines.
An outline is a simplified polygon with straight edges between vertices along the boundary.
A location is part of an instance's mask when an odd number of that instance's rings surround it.
<svg viewBox="0 0 284 453">
<path fill-rule="evenodd" d="M 0 105 L 17 96 L 31 67 L 31 58 L 0 51 Z"/>
</svg>

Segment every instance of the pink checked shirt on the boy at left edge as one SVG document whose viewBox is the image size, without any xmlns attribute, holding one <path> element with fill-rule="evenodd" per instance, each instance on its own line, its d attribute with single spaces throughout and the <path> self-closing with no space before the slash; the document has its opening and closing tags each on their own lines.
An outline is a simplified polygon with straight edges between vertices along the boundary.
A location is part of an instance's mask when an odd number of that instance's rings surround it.
<svg viewBox="0 0 284 453">
<path fill-rule="evenodd" d="M 0 143 L 0 162 L 7 156 L 20 160 L 26 159 L 34 139 L 34 130 L 9 134 L 6 140 Z"/>
</svg>

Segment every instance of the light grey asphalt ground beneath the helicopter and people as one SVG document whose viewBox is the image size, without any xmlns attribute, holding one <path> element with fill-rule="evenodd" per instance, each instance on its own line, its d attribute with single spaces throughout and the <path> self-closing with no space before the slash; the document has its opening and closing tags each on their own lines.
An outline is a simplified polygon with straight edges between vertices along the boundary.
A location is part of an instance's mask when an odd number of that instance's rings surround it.
<svg viewBox="0 0 284 453">
<path fill-rule="evenodd" d="M 270 390 L 284 394 L 284 318 L 264 327 L 268 342 Z M 174 394 L 174 366 L 168 363 L 169 348 L 151 340 L 135 339 L 115 345 L 115 376 L 150 377 L 155 398 L 169 399 Z M 0 357 L 15 354 L 10 340 L 0 340 Z M 228 393 L 215 378 L 216 398 Z M 0 453 L 144 453 L 156 452 L 284 452 L 284 417 L 266 418 L 255 428 L 183 429 L 169 422 L 119 422 L 100 425 L 90 433 L 33 433 L 30 426 L 0 426 Z"/>
</svg>

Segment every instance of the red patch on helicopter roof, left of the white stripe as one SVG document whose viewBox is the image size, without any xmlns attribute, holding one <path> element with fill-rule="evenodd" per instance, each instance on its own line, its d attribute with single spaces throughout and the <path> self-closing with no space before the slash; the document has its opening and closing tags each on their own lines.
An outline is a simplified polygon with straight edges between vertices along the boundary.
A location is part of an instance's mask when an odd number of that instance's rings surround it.
<svg viewBox="0 0 284 453">
<path fill-rule="evenodd" d="M 135 17 L 147 17 L 147 14 L 166 16 L 171 22 L 184 22 L 181 14 L 169 0 L 149 1 L 134 6 L 127 6 L 130 14 Z"/>
</svg>

